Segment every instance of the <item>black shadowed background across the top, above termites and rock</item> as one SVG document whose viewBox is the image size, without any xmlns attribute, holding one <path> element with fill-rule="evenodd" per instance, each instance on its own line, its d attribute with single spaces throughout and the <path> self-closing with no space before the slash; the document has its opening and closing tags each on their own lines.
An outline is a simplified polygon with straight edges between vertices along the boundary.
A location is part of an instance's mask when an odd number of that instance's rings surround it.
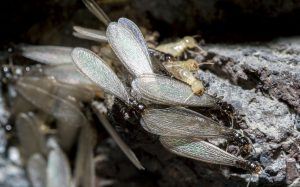
<svg viewBox="0 0 300 187">
<path fill-rule="evenodd" d="M 245 42 L 299 35 L 299 1 L 98 1 L 112 20 L 126 16 L 160 39 L 201 34 L 207 42 Z M 77 45 L 72 25 L 99 27 L 79 0 L 11 0 L 0 6 L 0 42 Z"/>
</svg>

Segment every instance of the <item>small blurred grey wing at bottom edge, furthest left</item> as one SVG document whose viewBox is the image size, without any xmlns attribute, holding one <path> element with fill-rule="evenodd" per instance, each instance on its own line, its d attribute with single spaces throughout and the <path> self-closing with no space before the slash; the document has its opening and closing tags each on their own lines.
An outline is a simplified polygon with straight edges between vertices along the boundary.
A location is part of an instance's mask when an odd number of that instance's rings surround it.
<svg viewBox="0 0 300 187">
<path fill-rule="evenodd" d="M 32 155 L 27 162 L 27 173 L 32 187 L 45 187 L 47 181 L 47 162 L 38 153 Z"/>
</svg>

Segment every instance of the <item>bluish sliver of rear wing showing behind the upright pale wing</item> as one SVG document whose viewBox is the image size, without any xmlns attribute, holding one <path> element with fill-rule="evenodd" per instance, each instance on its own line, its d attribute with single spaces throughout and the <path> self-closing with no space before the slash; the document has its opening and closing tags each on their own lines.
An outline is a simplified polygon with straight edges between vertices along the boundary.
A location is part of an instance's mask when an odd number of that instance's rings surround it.
<svg viewBox="0 0 300 187">
<path fill-rule="evenodd" d="M 133 21 L 131 21 L 127 18 L 120 18 L 118 20 L 118 23 L 123 25 L 124 27 L 128 28 L 129 30 L 131 30 L 131 32 L 135 36 L 136 40 L 139 41 L 141 47 L 143 48 L 143 51 L 144 51 L 145 55 L 147 56 L 149 62 L 151 62 L 147 43 L 146 43 L 145 38 L 144 38 L 141 30 L 139 29 L 139 27 Z"/>
</svg>

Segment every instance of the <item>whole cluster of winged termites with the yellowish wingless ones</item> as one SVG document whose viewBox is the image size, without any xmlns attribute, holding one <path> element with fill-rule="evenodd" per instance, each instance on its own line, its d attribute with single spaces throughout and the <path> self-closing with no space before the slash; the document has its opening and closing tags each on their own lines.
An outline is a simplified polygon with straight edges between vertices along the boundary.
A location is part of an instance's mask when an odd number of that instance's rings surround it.
<svg viewBox="0 0 300 187">
<path fill-rule="evenodd" d="M 111 22 L 94 1 L 84 0 L 84 3 L 106 24 L 107 29 L 98 31 L 75 26 L 74 35 L 108 42 L 113 52 L 100 50 L 101 58 L 84 48 L 21 48 L 23 56 L 45 64 L 42 70 L 32 70 L 16 82 L 16 90 L 22 97 L 14 103 L 19 106 L 14 111 L 16 128 L 33 182 L 37 177 L 44 177 L 43 184 L 47 183 L 47 186 L 94 186 L 93 146 L 96 135 L 80 110 L 81 103 L 92 102 L 92 110 L 105 129 L 132 163 L 144 169 L 110 125 L 105 107 L 94 101 L 94 98 L 104 98 L 104 93 L 115 96 L 126 108 L 134 111 L 143 129 L 159 136 L 161 144 L 172 153 L 202 162 L 243 168 L 253 174 L 260 172 L 258 164 L 229 154 L 206 141 L 224 138 L 249 154 L 252 147 L 248 138 L 190 109 L 215 108 L 220 103 L 218 98 L 206 93 L 202 81 L 195 78 L 193 72 L 199 70 L 199 63 L 193 59 L 178 58 L 191 48 L 198 48 L 204 53 L 194 38 L 184 37 L 177 42 L 149 49 L 140 29 L 131 20 L 120 18 L 117 22 Z M 149 51 L 161 55 L 164 69 L 172 76 L 154 71 Z M 110 67 L 116 61 L 132 76 L 130 80 L 127 78 L 129 76 L 122 77 L 131 82 L 130 93 Z M 159 108 L 156 107 L 158 105 Z M 34 109 L 39 112 L 28 112 Z M 125 115 L 126 110 L 123 113 Z M 53 119 L 55 128 L 45 125 Z M 77 156 L 72 176 L 65 153 L 76 143 Z M 41 171 L 33 171 L 37 167 Z M 56 180 L 51 180 L 53 178 Z"/>
</svg>

